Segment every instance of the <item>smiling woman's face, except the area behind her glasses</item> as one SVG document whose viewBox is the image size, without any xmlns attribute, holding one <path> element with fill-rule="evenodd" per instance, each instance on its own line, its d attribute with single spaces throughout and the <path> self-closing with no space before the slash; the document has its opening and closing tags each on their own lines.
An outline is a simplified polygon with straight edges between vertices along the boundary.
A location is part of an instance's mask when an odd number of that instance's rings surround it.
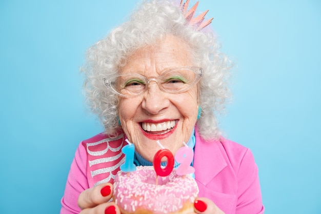
<svg viewBox="0 0 321 214">
<path fill-rule="evenodd" d="M 127 58 L 121 73 L 138 73 L 146 77 L 158 76 L 164 71 L 193 66 L 188 45 L 173 35 L 157 45 L 138 49 Z M 119 100 L 119 120 L 129 139 L 148 161 L 153 161 L 155 153 L 161 149 L 159 140 L 173 155 L 188 142 L 197 120 L 197 85 L 179 94 L 161 91 L 151 81 L 148 91 L 135 98 L 121 97 Z M 173 128 L 170 128 L 174 125 Z M 169 127 L 162 131 L 147 131 L 148 127 Z"/>
</svg>

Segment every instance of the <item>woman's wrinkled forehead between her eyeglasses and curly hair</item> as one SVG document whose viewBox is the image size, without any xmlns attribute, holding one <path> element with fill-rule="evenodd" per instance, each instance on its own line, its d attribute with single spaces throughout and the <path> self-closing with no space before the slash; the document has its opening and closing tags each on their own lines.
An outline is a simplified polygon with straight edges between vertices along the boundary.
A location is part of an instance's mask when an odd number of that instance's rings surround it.
<svg viewBox="0 0 321 214">
<path fill-rule="evenodd" d="M 153 45 L 138 48 L 126 58 L 119 71 L 149 76 L 182 66 L 192 66 L 190 47 L 180 38 L 167 35 Z"/>
</svg>

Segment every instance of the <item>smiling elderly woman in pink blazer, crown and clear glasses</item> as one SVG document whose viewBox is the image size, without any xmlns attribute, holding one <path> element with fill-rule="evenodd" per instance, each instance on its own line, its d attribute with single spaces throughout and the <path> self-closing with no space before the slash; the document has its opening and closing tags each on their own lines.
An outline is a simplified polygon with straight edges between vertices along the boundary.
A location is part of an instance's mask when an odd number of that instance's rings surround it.
<svg viewBox="0 0 321 214">
<path fill-rule="evenodd" d="M 156 140 L 173 154 L 188 142 L 199 188 L 196 213 L 264 212 L 251 151 L 217 128 L 228 60 L 218 52 L 210 21 L 194 14 L 197 4 L 187 6 L 145 1 L 88 50 L 86 98 L 105 132 L 77 148 L 62 214 L 120 213 L 110 199 L 126 139 L 135 145 L 137 166 L 152 165 Z"/>
</svg>

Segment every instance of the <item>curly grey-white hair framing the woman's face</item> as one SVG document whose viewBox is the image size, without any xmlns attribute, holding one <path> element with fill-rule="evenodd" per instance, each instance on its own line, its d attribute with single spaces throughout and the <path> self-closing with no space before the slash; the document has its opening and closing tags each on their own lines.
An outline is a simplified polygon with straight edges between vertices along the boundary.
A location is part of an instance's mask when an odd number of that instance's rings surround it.
<svg viewBox="0 0 321 214">
<path fill-rule="evenodd" d="M 177 36 L 189 44 L 194 66 L 204 69 L 204 76 L 198 83 L 202 115 L 197 121 L 197 128 L 205 140 L 217 139 L 221 133 L 215 112 L 223 109 L 229 94 L 226 81 L 229 60 L 218 52 L 214 33 L 205 29 L 198 31 L 196 27 L 187 25 L 179 6 L 171 0 L 144 1 L 129 21 L 88 49 L 87 61 L 82 69 L 86 78 L 86 102 L 104 124 L 106 133 L 115 136 L 121 129 L 118 97 L 105 86 L 103 79 L 114 78 L 119 67 L 126 64 L 126 58 L 137 48 L 153 45 L 166 34 Z"/>
</svg>

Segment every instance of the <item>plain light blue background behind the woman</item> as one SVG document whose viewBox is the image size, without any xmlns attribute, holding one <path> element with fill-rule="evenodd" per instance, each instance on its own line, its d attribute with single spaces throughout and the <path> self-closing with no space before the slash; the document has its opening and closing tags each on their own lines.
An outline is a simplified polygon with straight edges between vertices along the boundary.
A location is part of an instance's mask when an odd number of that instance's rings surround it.
<svg viewBox="0 0 321 214">
<path fill-rule="evenodd" d="M 114 3 L 111 3 L 114 2 Z M 0 3 L 0 213 L 58 213 L 86 110 L 86 49 L 135 1 Z M 321 3 L 202 0 L 232 57 L 227 137 L 252 149 L 265 213 L 321 213 Z M 214 163 L 215 164 L 215 163 Z"/>
</svg>

